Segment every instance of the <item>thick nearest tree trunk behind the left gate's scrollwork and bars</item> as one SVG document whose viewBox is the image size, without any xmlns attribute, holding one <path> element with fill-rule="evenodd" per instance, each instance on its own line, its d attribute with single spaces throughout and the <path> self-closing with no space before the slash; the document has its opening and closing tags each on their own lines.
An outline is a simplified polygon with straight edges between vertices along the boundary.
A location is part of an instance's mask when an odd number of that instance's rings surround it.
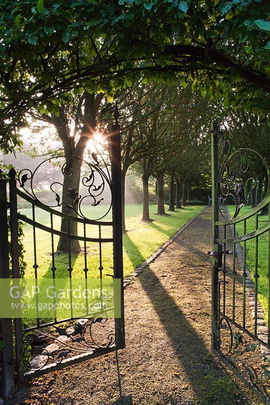
<svg viewBox="0 0 270 405">
<path fill-rule="evenodd" d="M 63 187 L 63 192 L 62 192 L 62 201 L 63 206 L 62 206 L 62 213 L 63 214 L 69 214 L 72 215 L 73 217 L 77 218 L 78 215 L 75 210 L 66 208 L 66 206 L 73 206 L 75 198 L 71 198 L 71 195 L 66 196 L 66 191 L 69 192 L 71 190 L 74 191 L 74 193 L 79 192 L 79 185 L 80 185 L 80 169 L 81 169 L 81 161 L 78 159 L 74 159 L 72 162 L 72 175 L 68 176 L 68 171 L 67 171 L 67 176 L 64 176 L 64 187 Z M 76 207 L 75 207 L 76 208 Z M 61 220 L 61 231 L 65 233 L 70 233 L 73 235 L 77 235 L 78 233 L 78 223 L 77 221 L 68 221 L 65 218 L 62 218 Z M 68 252 L 69 251 L 69 239 L 65 236 L 60 236 L 57 250 L 60 252 Z M 78 240 L 75 239 L 70 239 L 70 251 L 73 253 L 78 253 L 80 251 L 80 244 Z"/>
</svg>

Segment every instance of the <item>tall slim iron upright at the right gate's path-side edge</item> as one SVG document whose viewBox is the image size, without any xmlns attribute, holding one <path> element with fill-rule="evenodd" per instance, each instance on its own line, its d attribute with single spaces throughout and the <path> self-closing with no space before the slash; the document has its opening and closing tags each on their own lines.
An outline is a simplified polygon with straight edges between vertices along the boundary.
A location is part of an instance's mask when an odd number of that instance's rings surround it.
<svg viewBox="0 0 270 405">
<path fill-rule="evenodd" d="M 211 124 L 211 167 L 212 167 L 212 252 L 217 251 L 215 244 L 218 238 L 218 206 L 217 206 L 217 174 L 218 174 L 218 135 L 217 123 Z M 211 347 L 212 351 L 217 349 L 218 341 L 218 265 L 216 258 L 212 257 L 212 333 L 211 333 Z"/>
</svg>

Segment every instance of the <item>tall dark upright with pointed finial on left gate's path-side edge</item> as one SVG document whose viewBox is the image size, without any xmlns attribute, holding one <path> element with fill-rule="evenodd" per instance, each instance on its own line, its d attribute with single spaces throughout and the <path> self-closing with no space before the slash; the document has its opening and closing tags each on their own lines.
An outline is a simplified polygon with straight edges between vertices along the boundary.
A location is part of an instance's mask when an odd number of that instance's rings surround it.
<svg viewBox="0 0 270 405">
<path fill-rule="evenodd" d="M 121 138 L 117 105 L 114 111 L 115 124 L 111 127 L 110 159 L 112 173 L 112 219 L 113 219 L 113 268 L 114 278 L 121 279 L 121 318 L 115 319 L 117 349 L 125 347 L 124 331 L 124 286 L 123 286 L 123 237 L 121 204 Z"/>
</svg>

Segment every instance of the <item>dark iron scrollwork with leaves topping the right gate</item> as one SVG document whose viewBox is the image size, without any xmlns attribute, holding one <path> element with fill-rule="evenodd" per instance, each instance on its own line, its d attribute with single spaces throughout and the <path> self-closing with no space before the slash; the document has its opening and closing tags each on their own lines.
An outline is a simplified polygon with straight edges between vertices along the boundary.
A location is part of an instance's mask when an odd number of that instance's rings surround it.
<svg viewBox="0 0 270 405">
<path fill-rule="evenodd" d="M 260 162 L 266 174 L 267 187 L 264 198 L 260 201 L 261 205 L 263 205 L 264 199 L 270 193 L 270 167 L 267 166 L 262 155 L 251 148 L 240 148 L 232 152 L 231 143 L 228 138 L 228 130 L 224 124 L 216 124 L 213 133 L 217 136 L 218 143 L 221 145 L 216 184 L 218 210 L 220 215 L 224 219 L 227 219 L 226 215 L 220 210 L 218 196 L 221 194 L 226 202 L 228 202 L 229 197 L 231 197 L 235 204 L 235 212 L 232 218 L 236 218 L 241 208 L 249 203 L 250 195 L 258 185 L 258 179 L 253 174 L 247 176 L 249 170 L 251 170 L 248 155 L 252 155 L 254 161 Z M 236 162 L 238 167 L 234 166 Z M 244 176 L 246 177 L 245 180 L 243 180 Z"/>
</svg>

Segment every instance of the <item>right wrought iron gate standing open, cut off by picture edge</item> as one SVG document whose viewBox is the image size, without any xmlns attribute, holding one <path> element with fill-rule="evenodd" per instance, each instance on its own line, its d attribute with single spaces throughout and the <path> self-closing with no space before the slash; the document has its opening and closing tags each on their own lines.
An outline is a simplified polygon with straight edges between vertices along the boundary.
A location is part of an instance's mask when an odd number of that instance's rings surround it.
<svg viewBox="0 0 270 405">
<path fill-rule="evenodd" d="M 252 149 L 232 151 L 226 127 L 217 123 L 211 128 L 211 154 L 212 350 L 269 404 L 269 167 Z M 256 178 L 258 168 L 264 178 L 264 195 L 261 196 Z M 266 214 L 262 216 L 263 211 Z M 261 238 L 263 245 L 260 245 Z M 258 299 L 263 286 L 267 287 L 264 313 Z"/>
</svg>

